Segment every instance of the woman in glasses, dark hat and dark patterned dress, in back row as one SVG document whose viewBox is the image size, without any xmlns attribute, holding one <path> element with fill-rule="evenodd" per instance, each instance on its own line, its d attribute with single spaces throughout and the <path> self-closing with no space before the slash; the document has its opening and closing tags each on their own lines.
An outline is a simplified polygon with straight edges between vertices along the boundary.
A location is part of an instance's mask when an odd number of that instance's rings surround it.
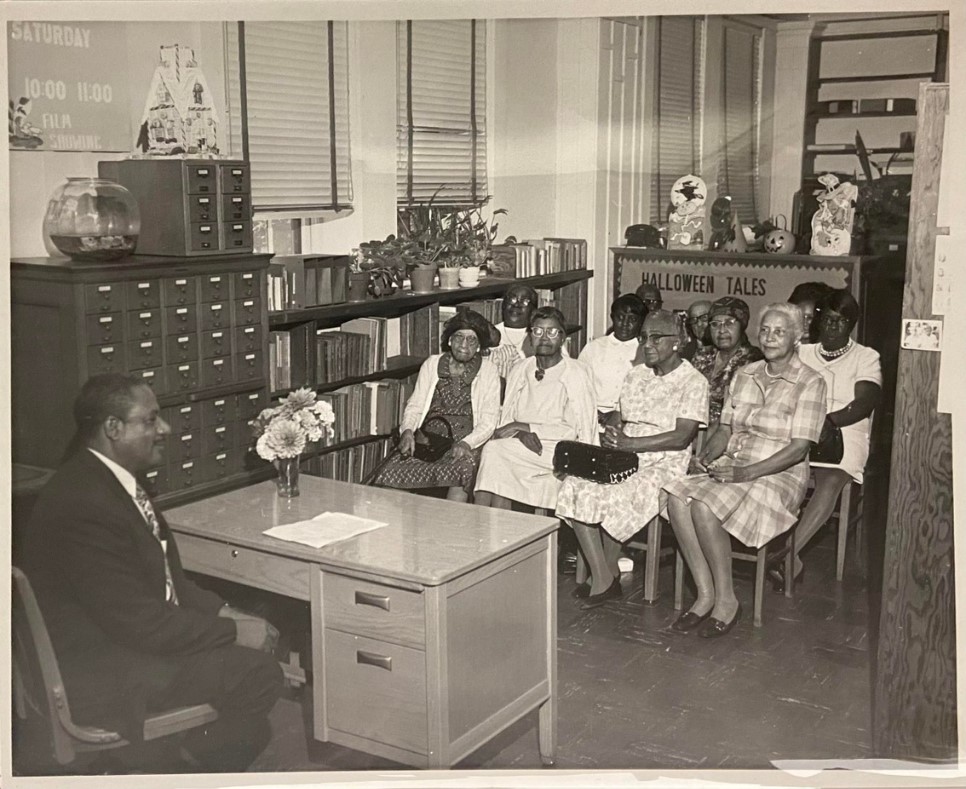
<svg viewBox="0 0 966 789">
<path fill-rule="evenodd" d="M 735 370 L 762 358 L 761 351 L 748 342 L 745 334 L 750 317 L 748 305 L 732 296 L 718 299 L 708 312 L 711 345 L 697 351 L 691 364 L 711 384 L 710 425 L 716 424 L 721 417 L 721 406 Z"/>
</svg>

